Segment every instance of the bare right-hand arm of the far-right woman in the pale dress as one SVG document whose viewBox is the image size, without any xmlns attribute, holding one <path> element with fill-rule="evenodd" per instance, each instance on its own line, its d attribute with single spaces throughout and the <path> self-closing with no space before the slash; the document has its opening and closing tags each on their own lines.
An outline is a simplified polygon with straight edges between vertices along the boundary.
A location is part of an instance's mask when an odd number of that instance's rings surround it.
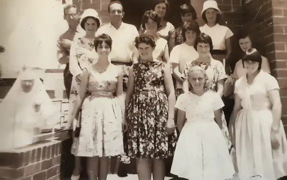
<svg viewBox="0 0 287 180">
<path fill-rule="evenodd" d="M 270 102 L 272 103 L 273 130 L 277 131 L 280 127 L 282 116 L 282 104 L 278 89 L 273 89 L 267 92 Z"/>
</svg>

